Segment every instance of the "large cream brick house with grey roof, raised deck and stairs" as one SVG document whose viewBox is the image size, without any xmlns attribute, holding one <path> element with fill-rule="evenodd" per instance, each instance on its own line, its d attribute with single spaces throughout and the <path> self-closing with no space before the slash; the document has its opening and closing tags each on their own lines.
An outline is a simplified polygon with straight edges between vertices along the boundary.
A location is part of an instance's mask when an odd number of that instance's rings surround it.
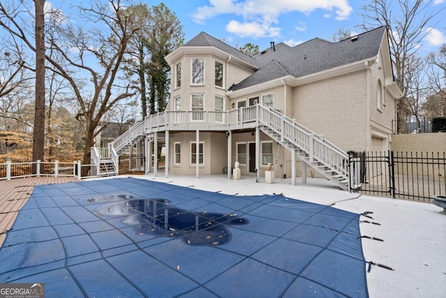
<svg viewBox="0 0 446 298">
<path fill-rule="evenodd" d="M 390 148 L 401 91 L 385 26 L 339 42 L 271 42 L 254 56 L 201 32 L 165 59 L 165 111 L 112 143 L 115 155 L 138 143 L 146 172 L 157 174 L 153 148 L 163 146 L 166 176 L 231 178 L 238 162 L 242 175 L 263 177 L 270 164 L 293 184 L 310 168 L 347 189 L 346 152 Z"/>
</svg>

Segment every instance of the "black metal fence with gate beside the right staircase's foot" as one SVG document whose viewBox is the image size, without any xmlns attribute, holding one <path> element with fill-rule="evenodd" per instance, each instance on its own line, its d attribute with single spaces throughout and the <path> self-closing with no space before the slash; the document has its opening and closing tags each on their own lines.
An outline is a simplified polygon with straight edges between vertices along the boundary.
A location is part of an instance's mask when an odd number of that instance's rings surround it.
<svg viewBox="0 0 446 298">
<path fill-rule="evenodd" d="M 353 152 L 351 191 L 431 202 L 446 194 L 445 152 Z"/>
</svg>

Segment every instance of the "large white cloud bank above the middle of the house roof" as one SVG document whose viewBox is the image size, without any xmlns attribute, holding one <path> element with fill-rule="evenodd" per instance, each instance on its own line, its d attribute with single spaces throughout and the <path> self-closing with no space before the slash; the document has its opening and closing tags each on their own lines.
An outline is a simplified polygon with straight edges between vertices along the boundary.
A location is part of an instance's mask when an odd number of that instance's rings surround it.
<svg viewBox="0 0 446 298">
<path fill-rule="evenodd" d="M 226 29 L 239 36 L 251 36 L 253 29 L 261 30 L 256 36 L 277 36 L 279 16 L 285 13 L 304 13 L 325 10 L 328 17 L 347 19 L 353 11 L 348 0 L 209 0 L 192 15 L 194 22 L 202 24 L 217 15 L 231 14 L 241 20 L 231 20 Z"/>
</svg>

